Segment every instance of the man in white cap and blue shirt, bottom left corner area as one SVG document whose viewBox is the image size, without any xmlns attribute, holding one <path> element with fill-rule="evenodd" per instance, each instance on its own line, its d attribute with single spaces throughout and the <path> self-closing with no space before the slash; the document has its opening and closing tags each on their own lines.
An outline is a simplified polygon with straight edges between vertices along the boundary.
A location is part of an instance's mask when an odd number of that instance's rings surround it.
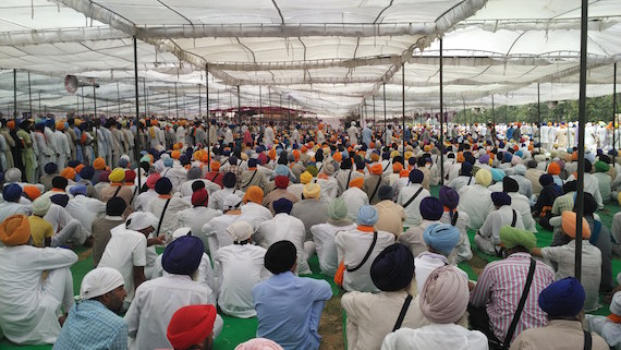
<svg viewBox="0 0 621 350">
<path fill-rule="evenodd" d="M 118 316 L 123 309 L 123 276 L 110 267 L 90 270 L 82 280 L 81 301 L 62 325 L 54 349 L 127 349 L 127 325 Z"/>
</svg>

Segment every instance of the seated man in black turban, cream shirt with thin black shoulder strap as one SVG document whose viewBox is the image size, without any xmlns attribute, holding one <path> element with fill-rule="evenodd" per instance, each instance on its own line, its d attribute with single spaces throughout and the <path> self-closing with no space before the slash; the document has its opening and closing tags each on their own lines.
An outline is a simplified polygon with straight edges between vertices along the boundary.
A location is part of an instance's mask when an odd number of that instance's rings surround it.
<svg viewBox="0 0 621 350">
<path fill-rule="evenodd" d="M 348 313 L 348 346 L 352 350 L 379 349 L 393 328 L 419 328 L 429 324 L 409 293 L 414 281 L 414 256 L 406 245 L 394 243 L 373 262 L 370 278 L 379 293 L 348 292 L 341 305 Z M 400 324 L 395 321 L 405 307 Z"/>
</svg>

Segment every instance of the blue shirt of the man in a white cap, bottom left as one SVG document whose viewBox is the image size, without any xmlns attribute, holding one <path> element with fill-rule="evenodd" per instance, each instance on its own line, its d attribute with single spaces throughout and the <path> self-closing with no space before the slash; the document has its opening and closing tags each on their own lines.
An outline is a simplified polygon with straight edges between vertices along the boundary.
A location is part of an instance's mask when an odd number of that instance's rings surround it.
<svg viewBox="0 0 621 350">
<path fill-rule="evenodd" d="M 53 349 L 126 350 L 127 325 L 96 300 L 71 307 Z"/>
</svg>

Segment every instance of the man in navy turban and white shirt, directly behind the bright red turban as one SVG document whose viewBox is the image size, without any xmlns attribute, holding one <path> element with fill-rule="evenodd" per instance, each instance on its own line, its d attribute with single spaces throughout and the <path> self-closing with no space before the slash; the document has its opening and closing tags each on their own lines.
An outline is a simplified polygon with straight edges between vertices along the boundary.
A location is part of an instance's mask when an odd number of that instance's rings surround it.
<svg viewBox="0 0 621 350">
<path fill-rule="evenodd" d="M 170 275 L 143 283 L 125 314 L 131 349 L 170 349 L 166 335 L 175 311 L 186 305 L 216 305 L 209 287 L 192 280 L 203 254 L 203 242 L 192 236 L 180 237 L 166 248 L 161 262 Z M 217 316 L 214 337 L 222 326 L 222 318 Z"/>
</svg>

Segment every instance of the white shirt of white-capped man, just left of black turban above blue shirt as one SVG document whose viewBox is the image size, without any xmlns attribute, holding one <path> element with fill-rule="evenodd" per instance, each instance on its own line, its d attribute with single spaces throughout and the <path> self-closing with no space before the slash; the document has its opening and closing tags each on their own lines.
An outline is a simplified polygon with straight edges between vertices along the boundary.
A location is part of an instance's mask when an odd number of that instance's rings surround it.
<svg viewBox="0 0 621 350">
<path fill-rule="evenodd" d="M 220 283 L 218 305 L 226 314 L 248 318 L 256 316 L 253 288 L 271 274 L 264 266 L 267 251 L 253 244 L 222 246 L 214 256 Z"/>
</svg>

